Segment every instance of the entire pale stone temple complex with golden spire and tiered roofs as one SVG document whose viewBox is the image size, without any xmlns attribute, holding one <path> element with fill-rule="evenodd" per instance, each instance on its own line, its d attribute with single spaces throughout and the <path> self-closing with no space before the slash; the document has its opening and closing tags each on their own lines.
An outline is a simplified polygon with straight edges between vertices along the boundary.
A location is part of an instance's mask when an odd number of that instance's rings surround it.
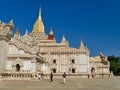
<svg viewBox="0 0 120 90">
<path fill-rule="evenodd" d="M 11 38 L 14 25 L 0 21 L 1 78 L 29 78 L 38 73 L 48 78 L 50 72 L 59 78 L 66 72 L 69 78 L 109 76 L 109 61 L 102 53 L 90 57 L 82 40 L 79 48 L 71 48 L 63 36 L 56 43 L 52 28 L 45 33 L 41 10 L 31 33 L 21 36 L 18 29 Z"/>
</svg>

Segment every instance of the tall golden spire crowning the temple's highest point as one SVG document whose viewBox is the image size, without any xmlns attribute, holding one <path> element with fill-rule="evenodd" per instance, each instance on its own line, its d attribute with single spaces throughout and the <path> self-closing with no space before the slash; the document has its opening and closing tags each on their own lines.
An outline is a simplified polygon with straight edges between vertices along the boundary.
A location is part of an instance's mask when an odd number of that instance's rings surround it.
<svg viewBox="0 0 120 90">
<path fill-rule="evenodd" d="M 42 22 L 42 17 L 41 17 L 41 8 L 39 9 L 39 16 L 38 19 L 36 20 L 32 32 L 34 33 L 44 33 L 44 24 Z"/>
</svg>

